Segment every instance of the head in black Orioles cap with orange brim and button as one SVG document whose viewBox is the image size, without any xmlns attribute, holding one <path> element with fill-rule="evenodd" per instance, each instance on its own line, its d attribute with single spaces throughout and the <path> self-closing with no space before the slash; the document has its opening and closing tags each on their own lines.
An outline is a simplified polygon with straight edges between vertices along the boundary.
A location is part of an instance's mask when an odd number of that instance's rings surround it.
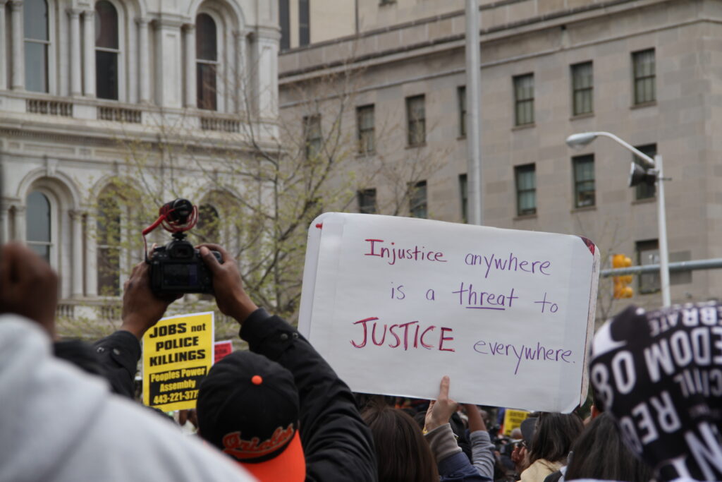
<svg viewBox="0 0 722 482">
<path fill-rule="evenodd" d="M 250 351 L 226 356 L 201 382 L 196 415 L 201 437 L 259 481 L 305 479 L 298 392 L 278 363 Z"/>
</svg>

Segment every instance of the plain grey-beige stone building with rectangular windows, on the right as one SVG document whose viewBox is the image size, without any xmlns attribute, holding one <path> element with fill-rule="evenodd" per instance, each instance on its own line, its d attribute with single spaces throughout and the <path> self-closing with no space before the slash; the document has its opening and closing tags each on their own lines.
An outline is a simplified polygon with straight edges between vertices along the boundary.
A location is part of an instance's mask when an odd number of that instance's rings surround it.
<svg viewBox="0 0 722 482">
<path fill-rule="evenodd" d="M 341 23 L 323 1 L 313 5 L 312 40 L 314 29 Z M 308 108 L 295 98 L 297 85 L 354 72 L 349 131 L 362 145 L 386 135 L 358 148 L 355 168 L 389 156 L 437 160 L 413 180 L 419 189 L 404 214 L 461 222 L 464 1 L 359 0 L 346 14 L 345 35 L 280 54 L 282 115 Z M 484 224 L 586 236 L 607 267 L 612 253 L 656 262 L 656 192 L 627 187 L 630 152 L 605 139 L 578 151 L 565 145 L 570 134 L 607 131 L 664 156 L 671 262 L 719 257 L 722 2 L 481 0 L 479 16 Z M 396 128 L 390 136 L 388 126 Z M 393 195 L 383 178 L 358 187 L 362 212 L 383 212 Z M 671 284 L 673 302 L 718 298 L 722 273 L 677 273 Z M 632 302 L 661 304 L 657 275 L 637 277 L 634 288 Z M 608 284 L 601 290 L 601 315 L 625 306 L 611 304 Z"/>
</svg>

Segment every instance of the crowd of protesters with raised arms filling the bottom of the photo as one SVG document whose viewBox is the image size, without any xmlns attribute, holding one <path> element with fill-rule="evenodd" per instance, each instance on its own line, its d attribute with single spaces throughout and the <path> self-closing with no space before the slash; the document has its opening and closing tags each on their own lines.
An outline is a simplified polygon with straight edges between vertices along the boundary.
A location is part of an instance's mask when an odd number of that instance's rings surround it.
<svg viewBox="0 0 722 482">
<path fill-rule="evenodd" d="M 51 268 L 0 249 L 0 482 L 722 479 L 716 304 L 627 309 L 594 340 L 589 413 L 532 413 L 503 436 L 495 408 L 450 397 L 453 374 L 429 381 L 430 401 L 352 393 L 253 303 L 221 246 L 200 252 L 249 350 L 216 363 L 173 421 L 134 400 L 139 340 L 175 301 L 152 293 L 147 264 L 124 286 L 119 330 L 89 346 L 56 336 Z"/>
</svg>

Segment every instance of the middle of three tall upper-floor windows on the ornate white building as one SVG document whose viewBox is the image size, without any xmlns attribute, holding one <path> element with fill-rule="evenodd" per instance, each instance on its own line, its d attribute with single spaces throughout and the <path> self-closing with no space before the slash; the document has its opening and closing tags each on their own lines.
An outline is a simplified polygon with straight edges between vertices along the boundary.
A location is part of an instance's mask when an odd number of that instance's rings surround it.
<svg viewBox="0 0 722 482">
<path fill-rule="evenodd" d="M 108 0 L 95 4 L 95 92 L 118 99 L 118 12 Z"/>
</svg>

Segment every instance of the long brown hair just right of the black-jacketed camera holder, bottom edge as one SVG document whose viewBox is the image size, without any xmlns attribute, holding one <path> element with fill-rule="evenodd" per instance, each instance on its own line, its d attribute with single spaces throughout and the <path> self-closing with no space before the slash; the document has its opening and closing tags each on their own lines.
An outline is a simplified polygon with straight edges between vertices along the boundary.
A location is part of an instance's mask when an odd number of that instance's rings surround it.
<svg viewBox="0 0 722 482">
<path fill-rule="evenodd" d="M 413 418 L 388 405 L 370 405 L 361 416 L 373 435 L 379 482 L 438 482 L 431 448 Z"/>
</svg>

